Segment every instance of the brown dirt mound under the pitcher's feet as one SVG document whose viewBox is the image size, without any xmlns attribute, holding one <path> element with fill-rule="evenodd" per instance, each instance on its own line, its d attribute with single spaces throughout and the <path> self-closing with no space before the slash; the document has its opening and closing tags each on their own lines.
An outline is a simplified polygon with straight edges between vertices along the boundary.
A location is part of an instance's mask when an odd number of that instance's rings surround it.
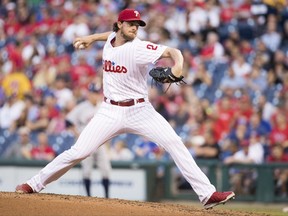
<svg viewBox="0 0 288 216">
<path fill-rule="evenodd" d="M 57 194 L 0 192 L 0 215 L 5 216 L 259 216 L 231 210 L 204 210 L 180 204 L 139 202 Z M 263 216 L 263 214 L 262 214 Z"/>
</svg>

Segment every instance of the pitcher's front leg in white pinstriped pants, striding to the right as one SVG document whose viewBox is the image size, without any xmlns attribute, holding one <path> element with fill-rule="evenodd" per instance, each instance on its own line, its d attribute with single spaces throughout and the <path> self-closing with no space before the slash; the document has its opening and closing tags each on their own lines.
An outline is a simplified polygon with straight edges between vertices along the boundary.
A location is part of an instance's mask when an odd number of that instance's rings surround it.
<svg viewBox="0 0 288 216">
<path fill-rule="evenodd" d="M 169 152 L 200 201 L 205 203 L 216 189 L 198 167 L 181 138 L 152 106 L 146 107 L 138 113 L 140 113 L 141 124 L 133 125 L 133 129 Z M 134 121 L 136 121 L 135 118 L 134 116 Z"/>
</svg>

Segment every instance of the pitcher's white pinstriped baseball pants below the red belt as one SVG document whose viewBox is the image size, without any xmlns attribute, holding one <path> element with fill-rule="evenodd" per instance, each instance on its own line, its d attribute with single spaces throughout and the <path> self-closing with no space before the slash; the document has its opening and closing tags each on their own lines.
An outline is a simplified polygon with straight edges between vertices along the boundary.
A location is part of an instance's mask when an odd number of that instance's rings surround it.
<svg viewBox="0 0 288 216">
<path fill-rule="evenodd" d="M 150 102 L 129 107 L 102 102 L 75 145 L 58 155 L 27 183 L 35 192 L 40 192 L 47 184 L 57 180 L 91 155 L 103 143 L 122 133 L 142 135 L 168 151 L 202 203 L 215 192 L 215 187 L 195 163 L 181 138 Z"/>
</svg>

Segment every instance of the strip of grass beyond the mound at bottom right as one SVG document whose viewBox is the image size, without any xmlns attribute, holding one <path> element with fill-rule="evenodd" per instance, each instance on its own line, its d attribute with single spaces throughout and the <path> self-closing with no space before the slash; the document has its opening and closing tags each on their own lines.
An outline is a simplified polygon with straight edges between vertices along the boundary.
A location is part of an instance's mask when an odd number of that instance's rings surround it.
<svg viewBox="0 0 288 216">
<path fill-rule="evenodd" d="M 173 203 L 183 205 L 193 205 L 195 207 L 202 208 L 202 205 L 198 202 L 188 201 L 173 201 Z M 237 210 L 241 212 L 255 212 L 258 214 L 269 216 L 288 216 L 288 212 L 284 213 L 282 210 L 288 206 L 288 203 L 254 203 L 254 202 L 235 202 L 231 201 L 226 205 L 219 205 L 217 209 Z"/>
</svg>

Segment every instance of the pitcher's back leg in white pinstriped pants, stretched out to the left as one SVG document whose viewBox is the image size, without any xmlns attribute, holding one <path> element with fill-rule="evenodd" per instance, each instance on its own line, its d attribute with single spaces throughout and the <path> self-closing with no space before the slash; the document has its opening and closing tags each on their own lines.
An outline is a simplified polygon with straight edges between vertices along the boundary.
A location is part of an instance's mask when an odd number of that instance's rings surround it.
<svg viewBox="0 0 288 216">
<path fill-rule="evenodd" d="M 75 145 L 58 155 L 27 183 L 35 192 L 39 192 L 50 182 L 60 178 L 74 165 L 96 151 L 100 145 L 117 135 L 122 127 L 119 114 L 119 112 L 111 114 L 109 108 L 104 105 L 104 109 L 100 109 L 82 131 Z"/>
</svg>

